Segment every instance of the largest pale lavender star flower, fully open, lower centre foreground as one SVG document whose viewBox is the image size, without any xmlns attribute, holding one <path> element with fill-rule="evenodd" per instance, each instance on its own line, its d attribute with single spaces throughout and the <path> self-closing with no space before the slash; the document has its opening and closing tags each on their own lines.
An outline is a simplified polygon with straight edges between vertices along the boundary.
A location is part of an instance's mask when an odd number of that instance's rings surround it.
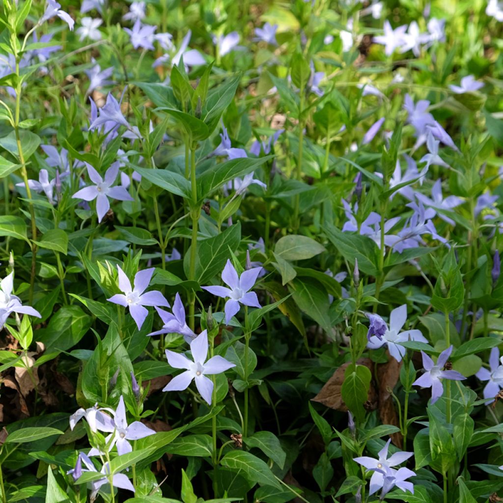
<svg viewBox="0 0 503 503">
<path fill-rule="evenodd" d="M 186 356 L 174 351 L 166 350 L 167 363 L 175 369 L 185 369 L 185 372 L 175 376 L 162 391 L 182 391 L 187 389 L 194 379 L 196 387 L 203 399 L 211 405 L 213 393 L 213 382 L 207 375 L 221 374 L 232 367 L 233 363 L 228 362 L 221 356 L 214 356 L 206 361 L 208 356 L 208 334 L 203 330 L 190 343 L 190 350 L 194 361 Z"/>
</svg>

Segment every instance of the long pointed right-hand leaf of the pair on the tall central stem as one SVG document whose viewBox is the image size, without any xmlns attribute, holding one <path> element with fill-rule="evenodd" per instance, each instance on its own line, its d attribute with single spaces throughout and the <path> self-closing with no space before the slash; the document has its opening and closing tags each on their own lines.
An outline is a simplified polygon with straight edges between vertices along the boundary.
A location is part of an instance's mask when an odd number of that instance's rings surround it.
<svg viewBox="0 0 503 503">
<path fill-rule="evenodd" d="M 239 157 L 219 164 L 214 163 L 203 174 L 198 175 L 198 198 L 202 200 L 211 196 L 215 190 L 227 182 L 255 171 L 259 166 L 272 158 L 272 155 L 260 158 Z"/>
</svg>

